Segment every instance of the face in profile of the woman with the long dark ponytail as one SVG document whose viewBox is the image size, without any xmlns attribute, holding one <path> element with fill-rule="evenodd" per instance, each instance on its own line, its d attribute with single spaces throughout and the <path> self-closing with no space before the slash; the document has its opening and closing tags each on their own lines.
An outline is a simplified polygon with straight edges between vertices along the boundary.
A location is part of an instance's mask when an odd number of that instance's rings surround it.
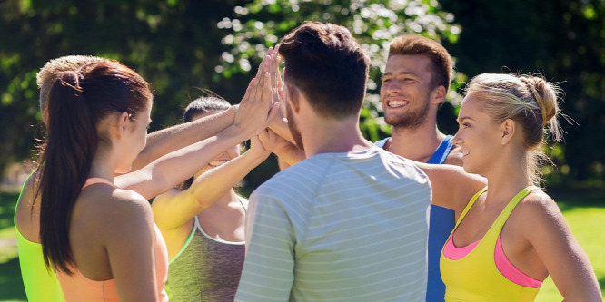
<svg viewBox="0 0 605 302">
<path fill-rule="evenodd" d="M 146 108 L 135 113 L 134 119 L 129 121 L 126 130 L 127 137 L 124 140 L 124 148 L 121 151 L 122 156 L 118 158 L 115 171 L 117 173 L 126 173 L 131 170 L 133 161 L 143 150 L 147 143 L 147 129 L 151 123 L 152 100 L 149 100 Z"/>
</svg>

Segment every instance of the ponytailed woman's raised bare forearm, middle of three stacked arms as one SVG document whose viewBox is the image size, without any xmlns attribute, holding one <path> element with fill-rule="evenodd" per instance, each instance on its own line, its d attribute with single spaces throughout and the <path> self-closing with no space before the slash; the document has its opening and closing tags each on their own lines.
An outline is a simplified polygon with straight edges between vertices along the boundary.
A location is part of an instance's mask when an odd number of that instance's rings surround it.
<svg viewBox="0 0 605 302">
<path fill-rule="evenodd" d="M 187 180 L 202 170 L 216 155 L 246 141 L 252 135 L 236 126 L 230 126 L 213 137 L 164 155 L 142 170 L 118 176 L 115 183 L 120 188 L 138 192 L 145 199 L 152 199 Z"/>
</svg>

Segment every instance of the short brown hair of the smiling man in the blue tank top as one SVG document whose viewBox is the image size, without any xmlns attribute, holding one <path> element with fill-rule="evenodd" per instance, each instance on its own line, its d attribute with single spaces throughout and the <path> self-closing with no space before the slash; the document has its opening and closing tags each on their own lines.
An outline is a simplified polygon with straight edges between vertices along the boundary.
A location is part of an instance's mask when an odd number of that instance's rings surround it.
<svg viewBox="0 0 605 302">
<path fill-rule="evenodd" d="M 392 40 L 389 58 L 395 54 L 424 54 L 432 62 L 432 88 L 437 86 L 450 90 L 453 63 L 445 48 L 429 38 L 418 34 L 403 34 Z"/>
</svg>

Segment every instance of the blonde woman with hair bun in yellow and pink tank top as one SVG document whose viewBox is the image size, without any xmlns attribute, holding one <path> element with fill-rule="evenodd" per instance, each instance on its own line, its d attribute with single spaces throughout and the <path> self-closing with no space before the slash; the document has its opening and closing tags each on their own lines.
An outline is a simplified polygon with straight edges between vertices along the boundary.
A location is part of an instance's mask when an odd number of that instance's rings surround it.
<svg viewBox="0 0 605 302">
<path fill-rule="evenodd" d="M 464 170 L 488 186 L 456 213 L 441 252 L 446 301 L 533 301 L 549 275 L 566 300 L 602 300 L 560 209 L 535 187 L 543 133 L 560 140 L 559 94 L 531 75 L 481 74 L 469 83 L 453 143 Z"/>
</svg>

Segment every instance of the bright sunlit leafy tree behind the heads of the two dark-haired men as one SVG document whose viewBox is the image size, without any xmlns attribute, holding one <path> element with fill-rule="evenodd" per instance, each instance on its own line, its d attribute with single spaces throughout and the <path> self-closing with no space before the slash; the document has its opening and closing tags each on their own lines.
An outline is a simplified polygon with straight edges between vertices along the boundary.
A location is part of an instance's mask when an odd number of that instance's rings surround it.
<svg viewBox="0 0 605 302">
<path fill-rule="evenodd" d="M 221 42 L 231 49 L 223 52 L 222 63 L 216 66 L 216 71 L 226 78 L 234 73 L 249 72 L 252 65 L 260 63 L 270 46 L 305 21 L 349 28 L 372 60 L 360 122 L 362 132 L 371 141 L 391 132 L 380 117 L 382 105 L 378 91 L 392 38 L 401 34 L 422 34 L 455 43 L 460 33 L 460 27 L 452 24 L 453 15 L 443 12 L 434 0 L 254 0 L 236 6 L 234 12 L 236 17 L 224 18 L 218 24 L 219 28 L 230 31 Z M 460 101 L 455 90 L 449 99 Z"/>
</svg>

